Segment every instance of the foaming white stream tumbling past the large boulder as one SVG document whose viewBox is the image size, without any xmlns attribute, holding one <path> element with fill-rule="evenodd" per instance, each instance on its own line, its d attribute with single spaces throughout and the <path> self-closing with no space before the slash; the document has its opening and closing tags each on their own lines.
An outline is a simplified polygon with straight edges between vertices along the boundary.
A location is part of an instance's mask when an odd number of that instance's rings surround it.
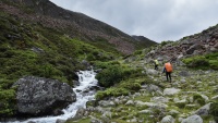
<svg viewBox="0 0 218 123">
<path fill-rule="evenodd" d="M 56 123 L 59 120 L 66 120 L 75 115 L 78 108 L 86 108 L 86 102 L 94 99 L 95 91 L 88 91 L 88 94 L 83 95 L 83 90 L 88 87 L 96 86 L 97 79 L 95 78 L 96 73 L 92 71 L 80 71 L 77 72 L 80 86 L 73 88 L 74 93 L 76 94 L 76 101 L 70 104 L 66 109 L 62 111 L 64 114 L 58 116 L 46 116 L 46 118 L 36 118 L 36 119 L 28 119 L 27 121 L 16 121 L 14 123 L 27 123 L 29 121 L 36 123 Z M 80 90 L 80 91 L 76 91 Z"/>
</svg>

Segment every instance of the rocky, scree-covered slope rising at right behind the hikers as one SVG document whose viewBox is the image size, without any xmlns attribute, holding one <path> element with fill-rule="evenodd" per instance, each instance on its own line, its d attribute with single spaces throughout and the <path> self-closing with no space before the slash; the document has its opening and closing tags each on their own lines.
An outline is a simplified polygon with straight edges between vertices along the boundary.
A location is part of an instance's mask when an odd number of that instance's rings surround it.
<svg viewBox="0 0 218 123">
<path fill-rule="evenodd" d="M 218 25 L 209 27 L 202 33 L 183 37 L 174 42 L 162 42 L 146 54 L 146 58 L 174 61 L 210 52 L 218 52 Z"/>
</svg>

